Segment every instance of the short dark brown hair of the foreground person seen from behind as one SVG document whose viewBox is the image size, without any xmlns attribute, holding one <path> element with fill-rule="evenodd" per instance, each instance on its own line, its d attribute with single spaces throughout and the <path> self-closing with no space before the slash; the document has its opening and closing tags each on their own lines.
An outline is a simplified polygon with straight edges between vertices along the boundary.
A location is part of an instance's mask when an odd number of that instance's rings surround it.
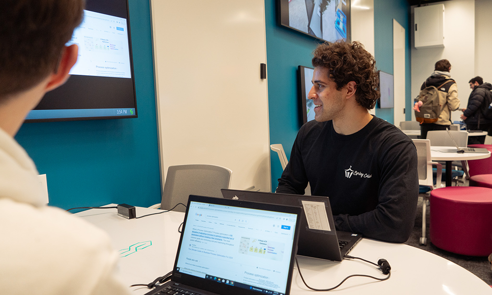
<svg viewBox="0 0 492 295">
<path fill-rule="evenodd" d="M 0 102 L 55 70 L 84 6 L 85 0 L 0 1 Z"/>
</svg>

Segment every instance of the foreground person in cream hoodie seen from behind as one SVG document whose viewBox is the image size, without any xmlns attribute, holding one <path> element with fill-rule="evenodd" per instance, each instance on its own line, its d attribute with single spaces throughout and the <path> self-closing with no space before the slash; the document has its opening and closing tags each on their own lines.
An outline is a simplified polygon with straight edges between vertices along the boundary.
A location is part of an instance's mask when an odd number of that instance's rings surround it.
<svg viewBox="0 0 492 295">
<path fill-rule="evenodd" d="M 124 295 L 118 253 L 92 224 L 43 204 L 38 172 L 14 136 L 77 60 L 66 46 L 84 0 L 0 1 L 0 294 Z"/>
</svg>

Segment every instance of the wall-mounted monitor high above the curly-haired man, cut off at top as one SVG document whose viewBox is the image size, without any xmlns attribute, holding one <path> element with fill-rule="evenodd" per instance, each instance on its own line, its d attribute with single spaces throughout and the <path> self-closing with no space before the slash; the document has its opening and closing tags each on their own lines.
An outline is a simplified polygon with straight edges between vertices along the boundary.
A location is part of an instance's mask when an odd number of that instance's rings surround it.
<svg viewBox="0 0 492 295">
<path fill-rule="evenodd" d="M 350 0 L 277 0 L 278 22 L 317 39 L 351 41 Z"/>
</svg>

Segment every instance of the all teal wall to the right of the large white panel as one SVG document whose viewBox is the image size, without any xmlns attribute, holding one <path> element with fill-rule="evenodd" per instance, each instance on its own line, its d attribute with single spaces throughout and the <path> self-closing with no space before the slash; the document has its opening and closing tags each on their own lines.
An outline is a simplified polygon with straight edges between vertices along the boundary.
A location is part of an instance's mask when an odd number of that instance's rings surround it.
<svg viewBox="0 0 492 295">
<path fill-rule="evenodd" d="M 292 145 L 300 128 L 297 92 L 297 66 L 311 65 L 311 53 L 317 41 L 277 25 L 277 1 L 265 0 L 267 39 L 268 107 L 270 144 L 282 144 L 290 158 Z M 393 74 L 393 18 L 409 36 L 410 6 L 406 0 L 374 0 L 374 43 L 378 69 Z M 352 20 L 353 21 L 353 20 Z M 406 40 L 406 108 L 410 108 L 410 48 Z M 407 112 L 407 120 L 410 115 Z M 376 116 L 393 123 L 393 109 L 377 109 Z M 411 116 L 411 115 L 410 115 Z M 276 152 L 271 154 L 272 190 L 282 168 Z"/>
</svg>

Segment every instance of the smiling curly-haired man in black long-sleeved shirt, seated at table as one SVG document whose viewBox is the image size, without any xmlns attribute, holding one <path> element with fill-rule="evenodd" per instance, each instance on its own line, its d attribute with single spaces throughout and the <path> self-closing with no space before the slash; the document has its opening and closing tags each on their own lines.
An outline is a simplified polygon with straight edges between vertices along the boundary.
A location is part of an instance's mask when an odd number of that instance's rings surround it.
<svg viewBox="0 0 492 295">
<path fill-rule="evenodd" d="M 304 124 L 278 193 L 330 198 L 338 231 L 405 242 L 412 231 L 419 181 L 417 150 L 395 125 L 369 114 L 379 98 L 373 57 L 359 42 L 319 45 Z"/>
</svg>

